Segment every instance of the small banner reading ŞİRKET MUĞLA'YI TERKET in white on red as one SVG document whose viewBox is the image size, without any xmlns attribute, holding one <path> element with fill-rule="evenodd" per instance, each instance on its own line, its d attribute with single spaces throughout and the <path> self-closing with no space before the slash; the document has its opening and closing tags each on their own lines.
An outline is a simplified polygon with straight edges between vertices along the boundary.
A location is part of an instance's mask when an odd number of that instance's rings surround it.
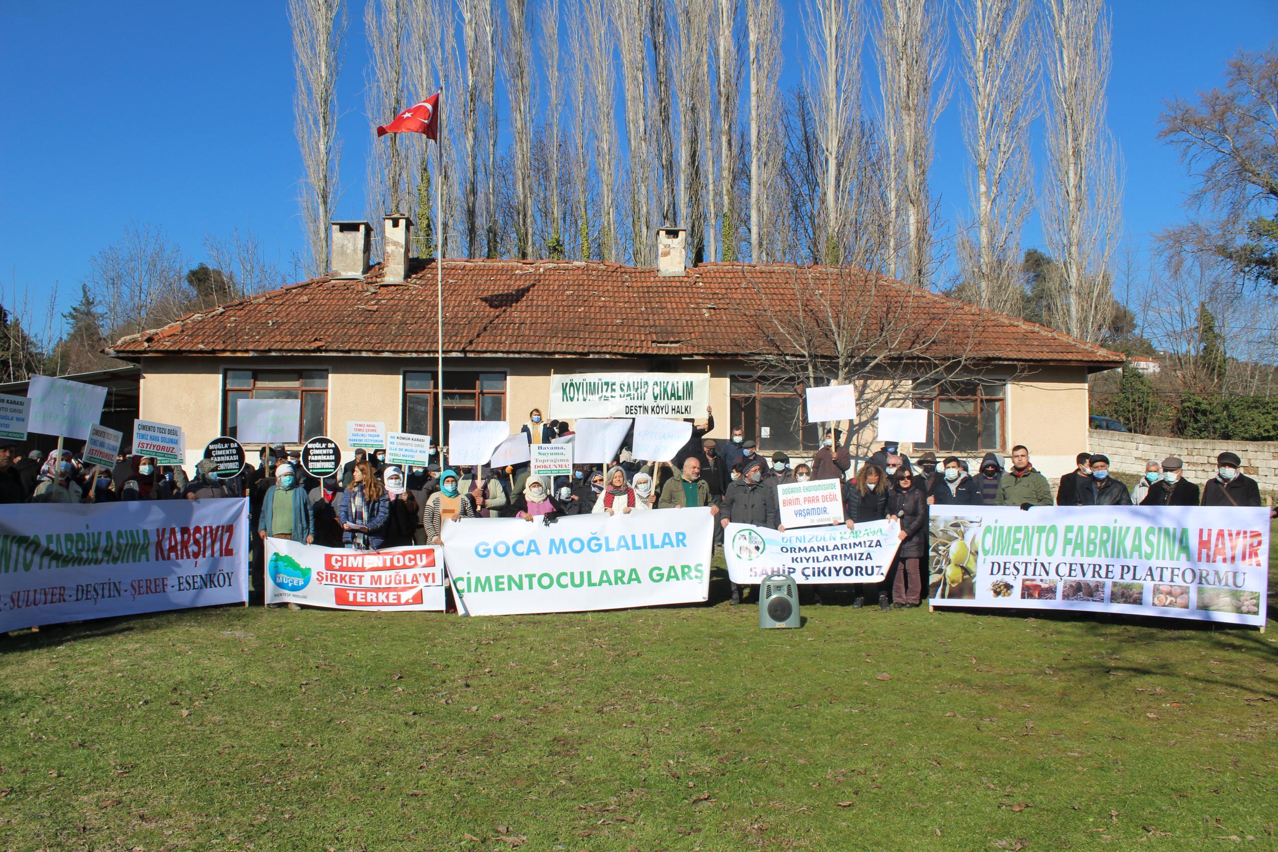
<svg viewBox="0 0 1278 852">
<path fill-rule="evenodd" d="M 443 548 L 348 551 L 267 538 L 266 603 L 442 612 Z"/>
</svg>

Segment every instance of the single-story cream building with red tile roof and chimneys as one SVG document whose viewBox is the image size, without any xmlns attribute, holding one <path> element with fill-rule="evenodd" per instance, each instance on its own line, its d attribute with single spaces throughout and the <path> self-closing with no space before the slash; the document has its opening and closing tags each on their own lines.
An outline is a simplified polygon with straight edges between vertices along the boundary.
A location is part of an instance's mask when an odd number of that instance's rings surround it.
<svg viewBox="0 0 1278 852">
<path fill-rule="evenodd" d="M 327 434 L 349 457 L 348 420 L 433 436 L 442 405 L 445 420 L 516 432 L 530 409 L 553 416 L 555 373 L 708 372 L 711 437 L 740 425 L 767 453 L 806 455 L 818 427 L 801 422 L 795 377 L 828 360 L 870 377 L 865 387 L 907 388 L 888 405 L 929 410 L 928 439 L 902 445 L 911 453 L 979 459 L 1025 443 L 1059 475 L 1088 447 L 1088 376 L 1122 364 L 1051 328 L 842 267 L 686 268 L 684 232 L 662 229 L 656 268 L 446 259 L 441 391 L 440 270 L 409 259 L 410 227 L 386 217 L 387 258 L 371 264 L 371 226 L 334 222 L 330 275 L 119 340 L 110 354 L 142 369 L 139 416 L 180 425 L 194 464 L 208 441 L 235 436 L 238 400 L 300 400 L 303 439 Z M 873 424 L 873 395 L 858 395 Z M 859 432 L 858 450 L 873 437 Z"/>
</svg>

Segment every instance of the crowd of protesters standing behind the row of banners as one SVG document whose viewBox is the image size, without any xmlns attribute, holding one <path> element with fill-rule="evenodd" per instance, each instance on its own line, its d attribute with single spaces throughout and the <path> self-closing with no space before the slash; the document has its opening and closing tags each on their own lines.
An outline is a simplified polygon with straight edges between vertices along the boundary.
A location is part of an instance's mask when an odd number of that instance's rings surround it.
<svg viewBox="0 0 1278 852">
<path fill-rule="evenodd" d="M 40 450 L 18 455 L 15 445 L 0 446 L 0 503 L 104 503 L 133 499 L 204 499 L 248 497 L 254 565 L 261 566 L 267 536 L 334 548 L 376 551 L 408 544 L 438 544 L 443 521 L 468 517 L 518 517 L 553 521 L 566 515 L 709 507 L 716 542 L 730 522 L 785 531 L 777 485 L 808 480 L 842 480 L 849 528 L 897 519 L 900 547 L 888 579 L 851 586 L 852 605 L 866 600 L 883 609 L 919 605 L 925 597 L 928 507 L 1013 506 L 1260 506 L 1255 479 L 1241 470 L 1233 452 L 1217 457 L 1217 475 L 1190 482 L 1177 457 L 1149 461 L 1135 489 L 1109 475 L 1109 459 L 1080 452 L 1075 470 L 1052 493 L 1047 478 L 1030 461 L 1025 446 L 1012 447 L 1011 466 L 988 452 L 973 474 L 957 456 L 937 459 L 928 451 L 911 461 L 897 442 L 886 441 L 852 470 L 849 441 L 840 430 L 824 436 L 810 462 L 790 465 L 785 452 L 766 457 L 735 427 L 721 448 L 704 436 L 714 428 L 707 409 L 688 443 L 670 462 L 644 462 L 626 445 L 604 468 L 578 465 L 571 476 L 553 482 L 529 474 L 528 464 L 492 469 L 387 465 L 385 451 L 357 450 L 355 457 L 331 476 L 311 476 L 300 453 L 282 446 L 262 447 L 256 465 L 220 478 L 211 460 L 188 478 L 179 465 L 160 465 L 150 456 L 119 456 L 114 468 L 87 465 L 77 453 L 47 457 Z M 550 443 L 573 434 L 566 422 L 542 422 L 534 409 L 521 432 L 530 443 Z M 432 450 L 433 453 L 433 450 Z M 817 588 L 815 602 L 826 589 Z M 732 584 L 731 603 L 744 589 Z"/>
</svg>

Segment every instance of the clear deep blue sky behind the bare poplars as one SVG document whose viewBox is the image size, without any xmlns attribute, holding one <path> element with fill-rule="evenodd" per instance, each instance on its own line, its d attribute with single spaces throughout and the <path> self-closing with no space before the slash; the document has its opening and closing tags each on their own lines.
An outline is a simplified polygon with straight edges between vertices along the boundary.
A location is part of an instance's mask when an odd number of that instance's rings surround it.
<svg viewBox="0 0 1278 852">
<path fill-rule="evenodd" d="M 337 212 L 363 218 L 377 121 L 363 115 L 363 1 L 348 4 Z M 803 56 L 800 5 L 782 5 L 789 88 Z M 17 290 L 43 304 L 56 284 L 65 309 L 89 257 L 129 222 L 162 227 L 192 266 L 203 259 L 206 234 L 234 229 L 254 231 L 272 259 L 290 266 L 303 239 L 285 9 L 284 0 L 0 4 L 6 303 Z M 1266 47 L 1278 37 L 1278 1 L 1111 0 L 1111 10 L 1109 125 L 1126 162 L 1125 230 L 1143 241 L 1182 220 L 1190 186 L 1176 153 L 1155 139 L 1163 98 L 1214 86 L 1240 49 Z M 956 86 L 932 175 L 951 221 L 967 206 L 960 97 Z M 1039 241 L 1031 222 L 1024 243 Z"/>
</svg>

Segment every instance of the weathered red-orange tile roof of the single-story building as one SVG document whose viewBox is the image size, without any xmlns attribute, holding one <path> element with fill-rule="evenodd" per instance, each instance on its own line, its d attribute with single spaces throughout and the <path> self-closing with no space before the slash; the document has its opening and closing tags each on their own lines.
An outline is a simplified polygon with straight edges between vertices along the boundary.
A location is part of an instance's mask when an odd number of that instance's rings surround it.
<svg viewBox="0 0 1278 852">
<path fill-rule="evenodd" d="M 436 267 L 403 284 L 314 278 L 120 339 L 142 355 L 427 355 Z M 840 333 L 831 333 L 841 327 Z M 445 354 L 743 358 L 840 342 L 919 358 L 1117 367 L 1122 355 L 900 281 L 841 267 L 705 263 L 684 277 L 571 261 L 445 261 Z"/>
</svg>

